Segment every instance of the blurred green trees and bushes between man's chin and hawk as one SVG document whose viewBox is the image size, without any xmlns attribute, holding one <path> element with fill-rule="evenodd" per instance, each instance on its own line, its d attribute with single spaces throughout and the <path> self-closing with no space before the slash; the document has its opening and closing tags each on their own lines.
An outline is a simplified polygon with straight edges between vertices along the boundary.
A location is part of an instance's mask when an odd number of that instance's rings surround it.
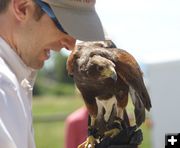
<svg viewBox="0 0 180 148">
<path fill-rule="evenodd" d="M 62 54 L 53 54 L 50 64 L 38 72 L 37 80 L 33 90 L 34 95 L 43 94 L 72 94 L 73 79 L 67 74 L 66 70 L 67 56 Z"/>
</svg>

